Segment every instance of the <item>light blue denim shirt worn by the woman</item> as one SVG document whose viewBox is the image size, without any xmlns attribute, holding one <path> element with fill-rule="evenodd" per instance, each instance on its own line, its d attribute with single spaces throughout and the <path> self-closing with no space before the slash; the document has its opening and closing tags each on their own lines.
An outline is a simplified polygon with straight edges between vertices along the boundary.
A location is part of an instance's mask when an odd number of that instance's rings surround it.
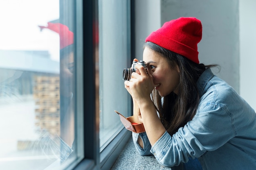
<svg viewBox="0 0 256 170">
<path fill-rule="evenodd" d="M 167 131 L 151 147 L 146 133 L 132 133 L 140 155 L 152 153 L 163 166 L 198 158 L 207 170 L 256 168 L 256 113 L 225 81 L 203 72 L 194 118 L 173 135 Z M 141 137 L 144 148 L 137 142 Z"/>
</svg>

